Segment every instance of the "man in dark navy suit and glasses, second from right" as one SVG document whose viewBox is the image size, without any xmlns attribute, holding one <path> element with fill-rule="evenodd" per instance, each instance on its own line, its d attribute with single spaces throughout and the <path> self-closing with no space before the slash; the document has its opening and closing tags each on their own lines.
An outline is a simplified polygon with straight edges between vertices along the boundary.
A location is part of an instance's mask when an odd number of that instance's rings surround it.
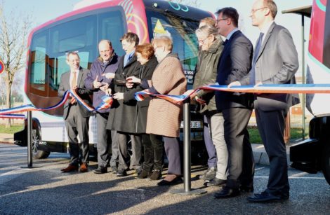
<svg viewBox="0 0 330 215">
<path fill-rule="evenodd" d="M 218 62 L 216 81 L 228 85 L 246 76 L 251 69 L 252 44 L 237 29 L 239 14 L 235 8 L 223 8 L 218 12 L 216 27 L 226 37 L 223 53 Z M 252 95 L 216 92 L 216 106 L 222 111 L 225 141 L 228 149 L 227 182 L 216 198 L 239 195 L 240 191 L 253 190 L 254 161 L 249 132 L 246 126 L 252 113 Z"/>
</svg>

